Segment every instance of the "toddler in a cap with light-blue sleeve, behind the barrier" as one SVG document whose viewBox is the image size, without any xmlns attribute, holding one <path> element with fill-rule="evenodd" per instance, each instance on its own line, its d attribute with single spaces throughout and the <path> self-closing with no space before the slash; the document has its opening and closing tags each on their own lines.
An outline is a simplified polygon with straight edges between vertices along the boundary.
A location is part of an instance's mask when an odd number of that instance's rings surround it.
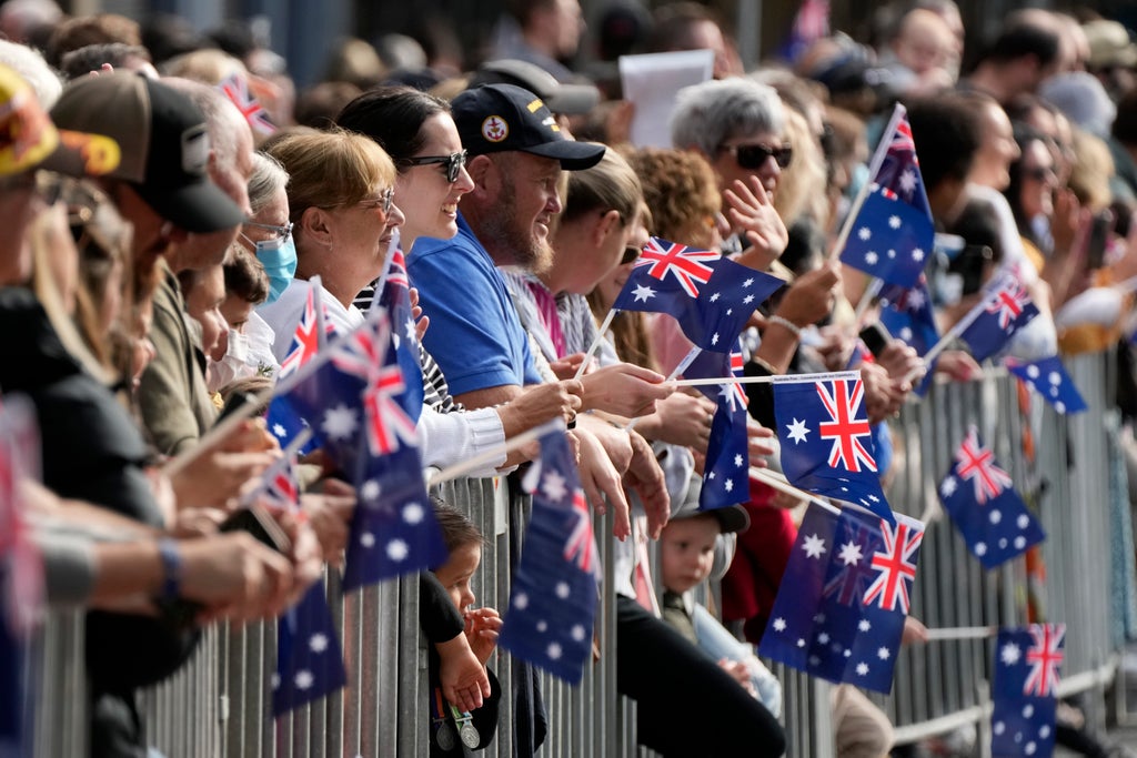
<svg viewBox="0 0 1137 758">
<path fill-rule="evenodd" d="M 659 536 L 663 619 L 709 655 L 775 717 L 781 713 L 781 684 L 754 650 L 737 640 L 692 590 L 711 576 L 720 534 L 744 532 L 750 518 L 741 506 L 699 510 L 697 499 L 672 515 Z"/>
</svg>

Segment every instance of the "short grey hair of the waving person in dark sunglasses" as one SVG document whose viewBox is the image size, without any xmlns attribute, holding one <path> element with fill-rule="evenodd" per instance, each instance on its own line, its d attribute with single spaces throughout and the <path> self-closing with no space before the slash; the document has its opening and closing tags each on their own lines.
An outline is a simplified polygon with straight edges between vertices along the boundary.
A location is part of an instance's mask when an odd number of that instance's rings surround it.
<svg viewBox="0 0 1137 758">
<path fill-rule="evenodd" d="M 696 148 L 714 160 L 736 135 L 770 132 L 781 135 L 786 113 L 773 88 L 750 78 L 725 78 L 683 88 L 671 116 L 671 143 Z"/>
</svg>

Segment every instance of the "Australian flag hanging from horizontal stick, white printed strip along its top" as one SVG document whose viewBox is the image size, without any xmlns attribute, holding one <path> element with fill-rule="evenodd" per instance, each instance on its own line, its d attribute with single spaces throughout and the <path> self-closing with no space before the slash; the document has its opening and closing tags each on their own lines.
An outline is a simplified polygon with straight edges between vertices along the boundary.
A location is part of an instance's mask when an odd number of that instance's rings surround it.
<svg viewBox="0 0 1137 758">
<path fill-rule="evenodd" d="M 782 472 L 795 486 L 861 503 L 893 523 L 863 401 L 858 372 L 774 377 Z"/>
</svg>

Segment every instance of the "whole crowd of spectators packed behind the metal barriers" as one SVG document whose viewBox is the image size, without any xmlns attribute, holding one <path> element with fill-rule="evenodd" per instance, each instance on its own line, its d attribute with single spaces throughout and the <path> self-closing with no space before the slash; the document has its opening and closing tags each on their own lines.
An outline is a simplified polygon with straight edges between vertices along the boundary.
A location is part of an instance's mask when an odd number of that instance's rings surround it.
<svg viewBox="0 0 1137 758">
<path fill-rule="evenodd" d="M 650 238 L 783 280 L 742 334 L 746 374 L 856 369 L 888 450 L 927 367 L 899 334 L 858 349 L 875 291 L 830 251 L 903 102 L 941 233 L 926 270 L 941 331 L 1010 273 L 1041 314 L 1010 352 L 1115 349 L 1119 402 L 1137 414 L 1137 43 L 1119 23 L 1024 9 L 965 47 L 952 0 L 895 2 L 875 48 L 833 34 L 745 70 L 697 3 L 612 3 L 587 64 L 575 0 L 506 5 L 471 73 L 453 45 L 387 40 L 384 64 L 357 40 L 299 93 L 251 36 L 0 6 L 0 389 L 39 422 L 42 476 L 18 497 L 48 601 L 89 608 L 91 755 L 146 755 L 138 692 L 184 664 L 202 626 L 275 618 L 341 565 L 346 472 L 305 459 L 299 509 L 272 513 L 288 549 L 273 550 L 218 526 L 279 440 L 259 417 L 210 431 L 231 397 L 280 376 L 313 290 L 347 334 L 391 258 L 416 292 L 424 466 L 500 451 L 474 475 L 507 475 L 538 448 L 506 440 L 568 424 L 587 500 L 614 515 L 616 683 L 663 755 L 785 751 L 780 686 L 754 644 L 798 501 L 752 480 L 737 505 L 697 509 L 715 403 L 667 381 L 691 343 L 631 310 L 599 331 Z M 714 78 L 675 93 L 671 148 L 632 145 L 612 61 L 689 49 L 714 51 Z M 963 382 L 981 366 L 953 344 L 935 372 Z M 750 464 L 777 467 L 769 388 L 747 394 Z M 435 510 L 450 558 L 423 575 L 431 678 L 485 744 L 501 619 L 471 608 L 482 536 Z M 645 592 L 656 544 L 658 597 Z M 692 600 L 708 578 L 717 616 Z M 910 619 L 905 639 L 922 635 Z M 832 706 L 839 756 L 888 755 L 863 694 L 841 685 Z M 501 728 L 531 755 L 540 719 L 514 713 Z M 450 755 L 439 740 L 432 755 Z"/>
</svg>

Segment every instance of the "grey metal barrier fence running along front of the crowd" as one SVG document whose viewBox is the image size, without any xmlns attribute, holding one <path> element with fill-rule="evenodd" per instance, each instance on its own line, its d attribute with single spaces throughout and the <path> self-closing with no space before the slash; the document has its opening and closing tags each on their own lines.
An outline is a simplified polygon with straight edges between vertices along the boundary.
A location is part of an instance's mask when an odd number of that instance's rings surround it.
<svg viewBox="0 0 1137 758">
<path fill-rule="evenodd" d="M 1045 620 L 1068 625 L 1062 693 L 1086 692 L 1087 715 L 1104 718 L 1102 690 L 1112 678 L 1124 632 L 1114 620 L 1134 611 L 1111 607 L 1110 590 L 1131 592 L 1132 540 L 1129 502 L 1115 430 L 1106 398 L 1111 364 L 1101 356 L 1069 361 L 1090 405 L 1065 418 L 1038 398 L 1020 413 L 1013 380 L 989 374 L 968 384 L 939 385 L 910 405 L 894 424 L 896 478 L 890 500 L 899 511 L 928 522 L 912 613 L 931 627 L 997 626 L 1028 619 L 1023 560 L 985 572 L 939 511 L 936 486 L 951 465 L 969 424 L 994 448 L 1024 494 L 1037 491 L 1048 539 L 1041 549 L 1047 581 L 1031 585 L 1031 607 Z M 1034 433 L 1031 460 L 1022 444 Z M 511 528 L 525 522 L 525 503 L 511 499 L 505 480 L 460 480 L 439 492 L 468 514 L 487 536 L 474 583 L 478 603 L 504 609 L 508 602 Z M 1117 542 L 1118 533 L 1130 535 Z M 611 523 L 597 524 L 611 534 Z M 1114 544 L 1111 550 L 1111 536 Z M 611 567 L 612 540 L 599 540 Z M 1120 547 L 1118 547 L 1120 544 Z M 1112 563 L 1111 563 L 1112 558 Z M 611 568 L 608 568 L 611 572 Z M 334 574 L 334 572 L 332 572 Z M 611 576 L 606 585 L 612 586 Z M 387 582 L 342 595 L 327 582 L 330 605 L 342 633 L 349 681 L 326 700 L 271 718 L 275 670 L 274 624 L 208 631 L 193 659 L 174 677 L 143 695 L 147 734 L 169 758 L 223 756 L 425 756 L 428 672 L 418 634 L 417 577 Z M 647 755 L 636 748 L 634 703 L 615 686 L 615 608 L 612 593 L 598 607 L 600 660 L 571 688 L 542 675 L 540 689 L 549 732 L 541 755 Z M 82 617 L 55 614 L 36 648 L 36 756 L 85 755 L 82 676 Z M 958 726 L 974 725 L 987 743 L 990 643 L 987 640 L 931 642 L 907 648 L 897 660 L 893 693 L 877 698 L 896 725 L 897 741 L 916 742 Z M 507 655 L 490 660 L 503 688 L 500 726 L 483 755 L 513 755 L 514 666 Z M 829 685 L 775 668 L 783 685 L 783 720 L 794 757 L 835 755 Z"/>
</svg>

